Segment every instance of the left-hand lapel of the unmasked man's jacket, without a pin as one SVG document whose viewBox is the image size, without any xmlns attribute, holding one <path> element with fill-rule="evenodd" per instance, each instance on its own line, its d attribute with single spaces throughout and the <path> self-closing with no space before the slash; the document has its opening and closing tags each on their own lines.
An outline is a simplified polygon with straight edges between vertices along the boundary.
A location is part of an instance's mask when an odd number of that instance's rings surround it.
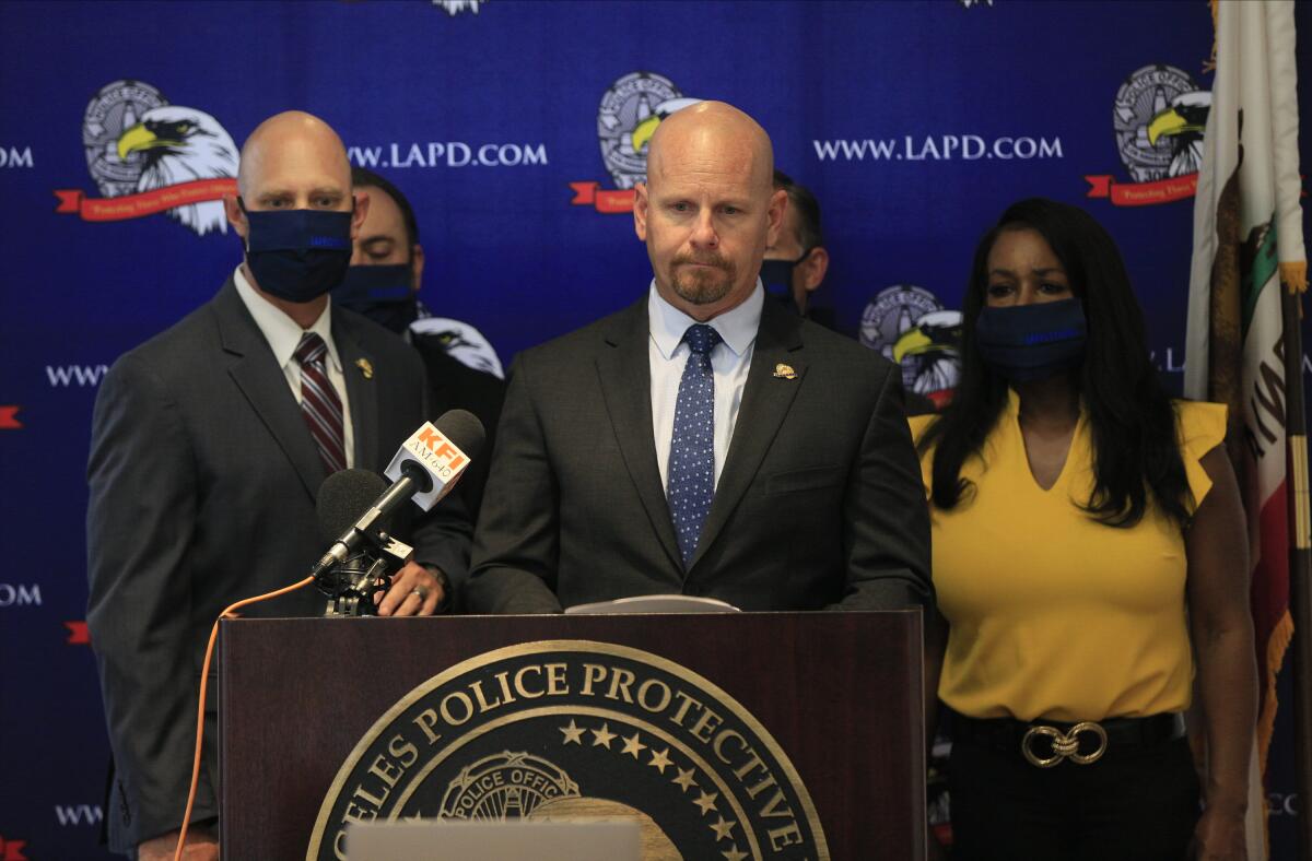
<svg viewBox="0 0 1312 861">
<path fill-rule="evenodd" d="M 651 364 L 647 355 L 647 295 L 615 317 L 597 356 L 597 375 L 606 400 L 610 423 L 619 443 L 628 477 L 647 510 L 656 537 L 676 570 L 684 564 L 669 519 L 669 505 L 656 464 L 656 438 L 652 432 Z"/>
</svg>

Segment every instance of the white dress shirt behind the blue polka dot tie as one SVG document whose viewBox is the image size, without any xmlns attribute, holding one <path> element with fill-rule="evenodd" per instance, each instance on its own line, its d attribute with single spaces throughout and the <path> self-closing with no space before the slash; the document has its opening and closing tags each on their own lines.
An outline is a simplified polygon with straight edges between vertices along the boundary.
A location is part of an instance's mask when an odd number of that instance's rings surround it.
<svg viewBox="0 0 1312 861">
<path fill-rule="evenodd" d="M 736 308 L 706 321 L 720 335 L 720 343 L 711 350 L 711 372 L 715 377 L 715 484 L 720 482 L 724 457 L 733 439 L 743 387 L 752 366 L 756 330 L 761 325 L 765 290 L 761 279 L 756 290 Z M 674 406 L 678 402 L 678 383 L 691 347 L 684 343 L 684 333 L 697 324 L 678 308 L 661 299 L 652 279 L 647 292 L 647 325 L 651 332 L 648 360 L 652 372 L 652 432 L 656 438 L 656 464 L 660 467 L 661 486 L 669 484 L 669 447 L 674 436 Z"/>
</svg>

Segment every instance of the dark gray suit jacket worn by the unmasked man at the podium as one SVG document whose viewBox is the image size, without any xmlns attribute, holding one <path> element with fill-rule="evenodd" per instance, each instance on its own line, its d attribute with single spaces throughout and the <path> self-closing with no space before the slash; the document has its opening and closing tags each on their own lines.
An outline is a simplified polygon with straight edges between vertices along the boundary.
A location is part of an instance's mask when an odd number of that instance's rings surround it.
<svg viewBox="0 0 1312 861">
<path fill-rule="evenodd" d="M 516 360 L 475 535 L 472 611 L 663 592 L 756 611 L 930 600 L 929 516 L 895 366 L 768 301 L 684 570 L 656 465 L 648 337 L 644 296 Z"/>
</svg>

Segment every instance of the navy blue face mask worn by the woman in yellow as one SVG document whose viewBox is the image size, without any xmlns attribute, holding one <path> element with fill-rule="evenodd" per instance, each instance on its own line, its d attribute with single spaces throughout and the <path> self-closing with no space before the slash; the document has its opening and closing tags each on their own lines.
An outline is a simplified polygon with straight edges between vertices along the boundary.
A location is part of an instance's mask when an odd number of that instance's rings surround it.
<svg viewBox="0 0 1312 861">
<path fill-rule="evenodd" d="M 980 354 L 1017 383 L 1044 380 L 1080 363 L 1088 326 L 1078 299 L 988 308 L 975 322 Z"/>
</svg>

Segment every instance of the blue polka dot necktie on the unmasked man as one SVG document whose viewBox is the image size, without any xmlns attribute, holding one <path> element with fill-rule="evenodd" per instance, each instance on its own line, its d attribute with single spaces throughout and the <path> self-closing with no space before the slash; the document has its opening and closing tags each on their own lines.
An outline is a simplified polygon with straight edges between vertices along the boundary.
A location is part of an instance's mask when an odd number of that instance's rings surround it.
<svg viewBox="0 0 1312 861">
<path fill-rule="evenodd" d="M 711 350 L 720 333 L 698 322 L 687 328 L 684 341 L 691 353 L 678 381 L 674 402 L 674 434 L 669 446 L 669 480 L 665 498 L 678 536 L 684 567 L 697 553 L 702 524 L 715 498 L 715 375 Z"/>
</svg>

